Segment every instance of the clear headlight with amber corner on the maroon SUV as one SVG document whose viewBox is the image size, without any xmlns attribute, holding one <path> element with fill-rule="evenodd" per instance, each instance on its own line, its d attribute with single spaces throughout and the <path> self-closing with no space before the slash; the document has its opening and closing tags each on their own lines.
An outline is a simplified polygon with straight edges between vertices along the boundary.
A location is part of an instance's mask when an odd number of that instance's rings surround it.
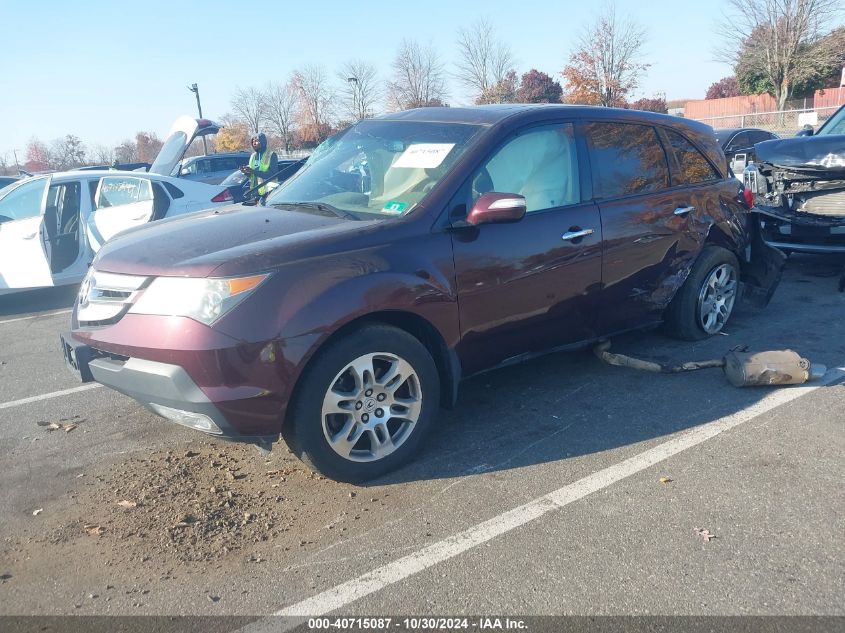
<svg viewBox="0 0 845 633">
<path fill-rule="evenodd" d="M 211 325 L 252 294 L 269 276 L 226 279 L 157 277 L 129 311 L 190 317 Z"/>
</svg>

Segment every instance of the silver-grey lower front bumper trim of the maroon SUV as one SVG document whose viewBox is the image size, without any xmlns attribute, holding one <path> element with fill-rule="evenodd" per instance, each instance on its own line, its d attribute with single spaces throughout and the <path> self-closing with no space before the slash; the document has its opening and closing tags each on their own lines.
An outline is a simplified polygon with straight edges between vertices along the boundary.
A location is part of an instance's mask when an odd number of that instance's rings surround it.
<svg viewBox="0 0 845 633">
<path fill-rule="evenodd" d="M 109 354 L 80 343 L 70 332 L 61 334 L 61 346 L 65 365 L 79 380 L 123 393 L 176 424 L 237 441 L 278 438 L 278 432 L 244 433 L 232 421 L 266 408 L 268 394 L 214 402 L 179 365 Z M 279 427 L 278 418 L 272 426 Z"/>
</svg>

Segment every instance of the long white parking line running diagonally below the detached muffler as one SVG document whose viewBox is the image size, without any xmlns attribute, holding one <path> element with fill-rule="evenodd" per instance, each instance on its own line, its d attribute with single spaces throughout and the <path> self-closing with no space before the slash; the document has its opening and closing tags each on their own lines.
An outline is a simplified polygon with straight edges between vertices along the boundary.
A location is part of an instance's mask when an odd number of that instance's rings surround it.
<svg viewBox="0 0 845 633">
<path fill-rule="evenodd" d="M 612 484 L 635 475 L 655 464 L 665 461 L 689 448 L 697 446 L 729 431 L 740 424 L 753 420 L 781 405 L 796 400 L 808 393 L 835 382 L 845 376 L 845 367 L 832 369 L 819 382 L 810 386 L 791 387 L 767 394 L 756 404 L 742 409 L 733 415 L 714 420 L 681 433 L 671 440 L 650 448 L 638 455 L 634 455 L 618 464 L 588 475 L 583 479 L 563 486 L 525 505 L 519 506 L 483 523 L 474 525 L 458 534 L 423 547 L 408 556 L 404 556 L 378 567 L 357 578 L 332 587 L 316 596 L 292 604 L 277 611 L 274 616 L 288 616 L 282 622 L 273 617 L 253 622 L 242 630 L 257 631 L 287 631 L 307 617 L 322 616 L 355 602 L 376 591 L 405 580 L 429 567 L 447 561 L 473 547 L 486 543 L 497 536 L 507 534 L 520 526 L 538 519 L 543 515 L 566 507 L 584 497 L 607 488 Z"/>
</svg>

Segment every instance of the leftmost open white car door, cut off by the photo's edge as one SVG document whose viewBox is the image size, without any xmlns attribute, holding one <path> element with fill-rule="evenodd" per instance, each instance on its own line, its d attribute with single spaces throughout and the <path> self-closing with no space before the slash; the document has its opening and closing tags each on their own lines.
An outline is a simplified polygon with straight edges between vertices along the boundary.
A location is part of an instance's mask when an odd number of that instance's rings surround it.
<svg viewBox="0 0 845 633">
<path fill-rule="evenodd" d="M 0 294 L 53 285 L 43 242 L 49 182 L 46 176 L 27 180 L 0 198 Z"/>
</svg>

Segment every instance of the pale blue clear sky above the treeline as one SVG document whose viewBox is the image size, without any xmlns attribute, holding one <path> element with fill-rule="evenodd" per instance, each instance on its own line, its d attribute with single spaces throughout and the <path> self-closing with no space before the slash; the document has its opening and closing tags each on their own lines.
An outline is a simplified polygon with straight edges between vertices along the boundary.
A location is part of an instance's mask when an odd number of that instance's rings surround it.
<svg viewBox="0 0 845 633">
<path fill-rule="evenodd" d="M 634 98 L 701 99 L 732 74 L 714 61 L 726 0 L 617 0 L 617 13 L 646 30 L 651 64 Z M 334 75 L 363 59 L 386 80 L 403 38 L 433 45 L 447 69 L 456 33 L 480 16 L 514 54 L 518 74 L 560 77 L 598 2 L 555 0 L 317 0 L 316 2 L 143 3 L 0 0 L 0 157 L 23 162 L 32 138 L 66 134 L 87 146 L 115 146 L 137 131 L 164 137 L 182 114 L 195 115 L 187 85 L 197 83 L 203 114 L 230 111 L 237 87 L 285 81 L 307 64 Z M 49 17 L 47 15 L 49 14 Z M 450 80 L 451 105 L 471 99 Z"/>
</svg>

